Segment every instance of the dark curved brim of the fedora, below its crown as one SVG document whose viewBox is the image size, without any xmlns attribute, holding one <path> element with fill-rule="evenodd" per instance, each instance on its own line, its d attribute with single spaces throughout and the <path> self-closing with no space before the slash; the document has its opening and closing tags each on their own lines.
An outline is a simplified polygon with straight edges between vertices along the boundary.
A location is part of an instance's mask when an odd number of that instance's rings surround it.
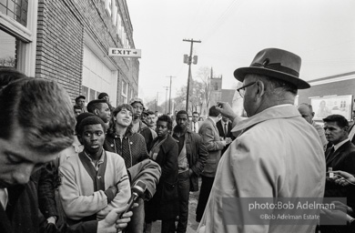
<svg viewBox="0 0 355 233">
<path fill-rule="evenodd" d="M 275 78 L 281 79 L 285 82 L 288 82 L 290 84 L 293 84 L 298 89 L 307 89 L 310 87 L 309 83 L 307 83 L 306 81 L 303 81 L 302 79 L 300 79 L 297 76 L 291 76 L 289 74 L 275 71 L 275 70 L 268 69 L 268 68 L 264 68 L 264 67 L 242 67 L 242 68 L 238 68 L 234 71 L 234 76 L 240 82 L 244 81 L 244 77 L 247 74 L 257 74 L 257 75 L 275 77 Z"/>
</svg>

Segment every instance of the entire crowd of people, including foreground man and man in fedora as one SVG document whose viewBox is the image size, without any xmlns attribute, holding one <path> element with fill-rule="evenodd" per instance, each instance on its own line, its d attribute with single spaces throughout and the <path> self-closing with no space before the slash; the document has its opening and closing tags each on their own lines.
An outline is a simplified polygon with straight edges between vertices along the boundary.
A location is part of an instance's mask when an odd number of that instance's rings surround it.
<svg viewBox="0 0 355 233">
<path fill-rule="evenodd" d="M 355 124 L 328 115 L 322 127 L 312 106 L 294 106 L 309 88 L 300 64 L 285 50 L 260 51 L 234 73 L 248 117 L 218 103 L 205 120 L 158 116 L 139 97 L 115 107 L 106 93 L 73 106 L 55 81 L 0 70 L 0 232 L 150 233 L 161 220 L 162 233 L 184 233 L 198 189 L 198 232 L 352 232 Z M 319 209 L 312 224 L 230 224 L 250 213 L 226 198 L 347 203 Z M 334 219 L 345 224 L 322 224 Z"/>
</svg>

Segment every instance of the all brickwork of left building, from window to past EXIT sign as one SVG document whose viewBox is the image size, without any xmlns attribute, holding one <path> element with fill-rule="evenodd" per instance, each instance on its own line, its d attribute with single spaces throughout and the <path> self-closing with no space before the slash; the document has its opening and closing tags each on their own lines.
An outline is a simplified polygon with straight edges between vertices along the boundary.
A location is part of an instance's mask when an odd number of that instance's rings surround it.
<svg viewBox="0 0 355 233">
<path fill-rule="evenodd" d="M 74 99 L 81 92 L 83 46 L 86 32 L 106 54 L 108 47 L 123 47 L 111 16 L 101 0 L 39 0 L 35 76 L 57 80 Z M 128 40 L 134 47 L 126 1 L 117 0 Z M 117 99 L 122 78 L 137 93 L 137 59 L 109 57 L 117 65 Z M 119 102 L 117 102 L 119 103 Z"/>
</svg>

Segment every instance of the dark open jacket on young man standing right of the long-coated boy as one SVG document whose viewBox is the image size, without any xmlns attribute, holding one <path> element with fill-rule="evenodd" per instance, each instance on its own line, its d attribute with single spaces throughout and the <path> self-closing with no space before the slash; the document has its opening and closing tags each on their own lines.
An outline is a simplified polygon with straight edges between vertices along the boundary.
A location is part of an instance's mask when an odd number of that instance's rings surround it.
<svg viewBox="0 0 355 233">
<path fill-rule="evenodd" d="M 190 176 L 190 191 L 196 192 L 198 191 L 198 177 L 202 173 L 208 159 L 208 150 L 202 141 L 202 137 L 192 132 L 189 128 L 185 133 L 185 140 L 188 166 L 194 172 Z"/>
</svg>

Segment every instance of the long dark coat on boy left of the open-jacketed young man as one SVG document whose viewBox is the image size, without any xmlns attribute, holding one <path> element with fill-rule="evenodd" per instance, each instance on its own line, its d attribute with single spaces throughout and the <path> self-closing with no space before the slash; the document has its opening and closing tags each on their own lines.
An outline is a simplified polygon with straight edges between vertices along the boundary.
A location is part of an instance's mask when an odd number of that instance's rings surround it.
<svg viewBox="0 0 355 233">
<path fill-rule="evenodd" d="M 149 145 L 149 151 L 157 142 L 156 137 Z M 157 219 L 174 219 L 178 214 L 177 174 L 178 174 L 177 141 L 167 135 L 167 140 L 160 146 L 155 162 L 161 167 L 161 177 L 157 184 L 157 192 L 146 202 L 146 219 L 148 222 Z"/>
</svg>

